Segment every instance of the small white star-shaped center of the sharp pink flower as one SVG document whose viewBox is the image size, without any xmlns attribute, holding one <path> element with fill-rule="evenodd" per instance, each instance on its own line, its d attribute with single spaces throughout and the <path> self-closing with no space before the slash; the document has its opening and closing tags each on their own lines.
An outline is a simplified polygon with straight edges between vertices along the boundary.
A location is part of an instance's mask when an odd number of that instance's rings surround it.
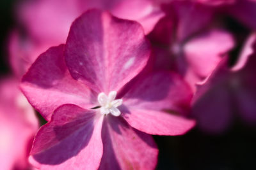
<svg viewBox="0 0 256 170">
<path fill-rule="evenodd" d="M 108 115 L 111 113 L 113 116 L 118 117 L 121 112 L 118 110 L 118 106 L 123 103 L 122 99 L 116 99 L 116 91 L 109 92 L 108 96 L 104 92 L 98 95 L 98 102 L 100 104 L 100 113 L 102 115 Z"/>
</svg>

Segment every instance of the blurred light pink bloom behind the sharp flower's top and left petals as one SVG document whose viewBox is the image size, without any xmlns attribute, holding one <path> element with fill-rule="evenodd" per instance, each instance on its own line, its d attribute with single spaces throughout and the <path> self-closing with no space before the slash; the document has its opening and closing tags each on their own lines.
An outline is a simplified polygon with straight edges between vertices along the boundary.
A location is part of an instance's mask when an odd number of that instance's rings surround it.
<svg viewBox="0 0 256 170">
<path fill-rule="evenodd" d="M 14 31 L 10 39 L 11 63 L 15 73 L 22 76 L 40 53 L 50 46 L 65 43 L 72 21 L 90 8 L 108 10 L 116 17 L 136 20 L 146 33 L 164 15 L 152 0 L 25 1 L 17 10 L 17 18 L 25 26 L 27 34 L 24 36 Z"/>
</svg>

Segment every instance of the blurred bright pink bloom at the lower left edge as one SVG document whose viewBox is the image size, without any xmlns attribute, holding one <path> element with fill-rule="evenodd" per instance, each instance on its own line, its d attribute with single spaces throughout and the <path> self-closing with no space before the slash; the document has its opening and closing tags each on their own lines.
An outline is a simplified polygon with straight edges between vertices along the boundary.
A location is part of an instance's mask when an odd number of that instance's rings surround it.
<svg viewBox="0 0 256 170">
<path fill-rule="evenodd" d="M 38 129 L 33 108 L 18 89 L 15 78 L 0 80 L 1 169 L 27 169 L 32 139 Z"/>
</svg>

